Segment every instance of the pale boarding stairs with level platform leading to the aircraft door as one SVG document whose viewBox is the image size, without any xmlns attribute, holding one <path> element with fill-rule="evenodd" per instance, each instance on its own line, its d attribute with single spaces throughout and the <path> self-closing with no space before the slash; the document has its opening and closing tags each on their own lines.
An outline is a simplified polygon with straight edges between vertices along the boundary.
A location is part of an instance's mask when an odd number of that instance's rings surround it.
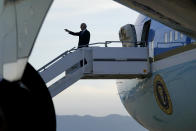
<svg viewBox="0 0 196 131">
<path fill-rule="evenodd" d="M 38 72 L 54 97 L 80 79 L 145 78 L 150 74 L 148 56 L 147 47 L 72 48 Z"/>
</svg>

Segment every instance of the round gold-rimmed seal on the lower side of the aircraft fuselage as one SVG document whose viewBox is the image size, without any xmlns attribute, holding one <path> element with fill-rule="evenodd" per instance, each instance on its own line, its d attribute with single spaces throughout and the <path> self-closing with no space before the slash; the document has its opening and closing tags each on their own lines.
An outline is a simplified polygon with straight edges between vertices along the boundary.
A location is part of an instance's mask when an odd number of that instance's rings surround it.
<svg viewBox="0 0 196 131">
<path fill-rule="evenodd" d="M 172 102 L 166 84 L 159 74 L 154 77 L 153 88 L 155 99 L 160 109 L 167 115 L 171 115 L 173 112 Z"/>
</svg>

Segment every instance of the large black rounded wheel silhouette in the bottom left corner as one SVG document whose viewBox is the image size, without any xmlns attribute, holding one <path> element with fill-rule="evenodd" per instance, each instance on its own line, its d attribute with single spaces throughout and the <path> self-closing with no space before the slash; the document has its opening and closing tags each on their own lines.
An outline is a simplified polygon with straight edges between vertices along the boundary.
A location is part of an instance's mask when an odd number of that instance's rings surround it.
<svg viewBox="0 0 196 131">
<path fill-rule="evenodd" d="M 56 131 L 52 98 L 30 64 L 21 81 L 0 82 L 0 131 Z"/>
</svg>

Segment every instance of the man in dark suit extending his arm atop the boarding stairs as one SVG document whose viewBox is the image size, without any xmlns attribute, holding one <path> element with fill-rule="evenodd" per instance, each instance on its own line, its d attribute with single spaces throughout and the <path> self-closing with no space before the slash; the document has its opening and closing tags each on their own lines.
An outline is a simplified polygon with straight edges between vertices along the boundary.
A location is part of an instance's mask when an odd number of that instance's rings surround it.
<svg viewBox="0 0 196 131">
<path fill-rule="evenodd" d="M 68 29 L 65 29 L 71 35 L 79 36 L 78 48 L 88 47 L 90 41 L 90 32 L 86 29 L 87 26 L 85 23 L 80 25 L 81 31 L 80 32 L 72 32 Z"/>
</svg>

